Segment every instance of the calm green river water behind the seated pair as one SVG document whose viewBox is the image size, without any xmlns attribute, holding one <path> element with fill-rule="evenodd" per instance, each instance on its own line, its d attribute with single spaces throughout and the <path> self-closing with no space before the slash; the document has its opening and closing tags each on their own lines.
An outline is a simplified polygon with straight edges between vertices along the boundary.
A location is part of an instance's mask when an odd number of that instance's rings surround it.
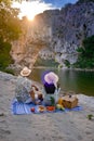
<svg viewBox="0 0 94 141">
<path fill-rule="evenodd" d="M 43 84 L 43 76 L 50 70 L 58 75 L 62 90 L 94 97 L 94 72 L 33 68 L 30 78 Z"/>
</svg>

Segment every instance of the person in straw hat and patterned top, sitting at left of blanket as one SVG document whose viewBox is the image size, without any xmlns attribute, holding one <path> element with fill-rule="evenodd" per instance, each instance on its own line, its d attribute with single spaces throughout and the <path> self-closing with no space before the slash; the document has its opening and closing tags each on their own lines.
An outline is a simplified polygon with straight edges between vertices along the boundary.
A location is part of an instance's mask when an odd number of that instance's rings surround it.
<svg viewBox="0 0 94 141">
<path fill-rule="evenodd" d="M 26 66 L 21 70 L 21 75 L 17 77 L 16 80 L 15 98 L 18 102 L 33 102 L 38 104 L 42 101 L 42 94 L 38 91 L 37 87 L 33 86 L 32 81 L 28 78 L 30 73 L 31 70 Z"/>
</svg>

